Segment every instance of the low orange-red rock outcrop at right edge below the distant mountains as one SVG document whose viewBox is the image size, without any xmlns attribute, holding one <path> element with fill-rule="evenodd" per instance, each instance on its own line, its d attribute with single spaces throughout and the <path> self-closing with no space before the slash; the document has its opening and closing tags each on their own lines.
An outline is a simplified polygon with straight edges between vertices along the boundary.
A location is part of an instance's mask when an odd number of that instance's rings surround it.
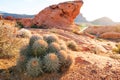
<svg viewBox="0 0 120 80">
<path fill-rule="evenodd" d="M 84 32 L 95 34 L 101 38 L 120 39 L 119 26 L 92 26 Z"/>
</svg>

